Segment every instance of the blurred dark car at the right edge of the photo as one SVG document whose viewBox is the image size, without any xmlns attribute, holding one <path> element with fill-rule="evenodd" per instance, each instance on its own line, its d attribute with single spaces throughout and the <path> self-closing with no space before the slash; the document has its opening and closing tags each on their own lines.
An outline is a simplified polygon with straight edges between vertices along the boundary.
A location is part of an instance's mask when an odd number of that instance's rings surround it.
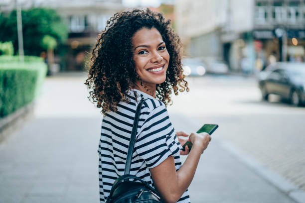
<svg viewBox="0 0 305 203">
<path fill-rule="evenodd" d="M 293 105 L 305 103 L 305 63 L 277 63 L 271 71 L 259 75 L 262 98 L 276 94 Z"/>
</svg>

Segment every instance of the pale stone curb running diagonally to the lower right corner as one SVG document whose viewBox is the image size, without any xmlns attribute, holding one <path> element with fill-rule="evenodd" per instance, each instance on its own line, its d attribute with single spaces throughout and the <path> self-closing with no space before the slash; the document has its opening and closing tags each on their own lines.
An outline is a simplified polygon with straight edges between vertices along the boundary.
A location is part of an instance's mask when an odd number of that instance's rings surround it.
<svg viewBox="0 0 305 203">
<path fill-rule="evenodd" d="M 220 144 L 227 149 L 231 154 L 240 159 L 244 164 L 253 169 L 257 174 L 265 180 L 276 186 L 279 190 L 286 193 L 291 199 L 297 203 L 305 203 L 305 192 L 298 186 L 285 179 L 275 171 L 268 169 L 257 159 L 242 151 L 229 141 L 219 140 Z"/>
</svg>

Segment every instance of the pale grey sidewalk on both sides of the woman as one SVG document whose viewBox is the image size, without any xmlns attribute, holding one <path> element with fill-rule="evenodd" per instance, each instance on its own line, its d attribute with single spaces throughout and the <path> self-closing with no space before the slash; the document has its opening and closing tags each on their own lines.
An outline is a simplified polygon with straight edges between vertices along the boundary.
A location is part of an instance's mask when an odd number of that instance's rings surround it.
<svg viewBox="0 0 305 203">
<path fill-rule="evenodd" d="M 0 203 L 98 203 L 102 115 L 83 77 L 47 79 L 36 118 L 0 143 Z M 176 130 L 195 123 L 171 114 Z M 183 161 L 185 157 L 181 157 Z M 212 139 L 189 187 L 192 203 L 295 203 Z"/>
</svg>

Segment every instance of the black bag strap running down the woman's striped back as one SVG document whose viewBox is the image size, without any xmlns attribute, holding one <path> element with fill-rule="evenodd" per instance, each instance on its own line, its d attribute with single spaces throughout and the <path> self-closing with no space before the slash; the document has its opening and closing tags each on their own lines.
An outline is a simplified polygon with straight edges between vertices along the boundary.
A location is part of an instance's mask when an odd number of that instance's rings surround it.
<svg viewBox="0 0 305 203">
<path fill-rule="evenodd" d="M 133 151 L 134 151 L 134 147 L 135 147 L 135 141 L 136 141 L 136 134 L 137 134 L 137 129 L 138 129 L 140 111 L 141 111 L 141 107 L 142 107 L 143 102 L 144 102 L 144 100 L 141 100 L 139 102 L 138 106 L 137 106 L 137 111 L 136 111 L 136 115 L 135 115 L 133 130 L 132 130 L 132 134 L 131 134 L 131 137 L 130 137 L 130 143 L 129 143 L 129 147 L 128 147 L 128 153 L 127 153 L 127 158 L 126 158 L 124 175 L 130 174 L 130 168 L 131 168 L 131 163 L 132 163 L 132 158 L 133 158 Z"/>
</svg>

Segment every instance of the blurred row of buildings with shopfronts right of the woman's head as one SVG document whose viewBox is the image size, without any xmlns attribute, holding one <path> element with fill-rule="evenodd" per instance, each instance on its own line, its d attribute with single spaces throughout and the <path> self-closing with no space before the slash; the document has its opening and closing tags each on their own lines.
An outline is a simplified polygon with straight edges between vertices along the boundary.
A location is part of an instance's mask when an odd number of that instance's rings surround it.
<svg viewBox="0 0 305 203">
<path fill-rule="evenodd" d="M 175 14 L 191 57 L 250 72 L 305 59 L 305 0 L 177 0 Z"/>
</svg>

